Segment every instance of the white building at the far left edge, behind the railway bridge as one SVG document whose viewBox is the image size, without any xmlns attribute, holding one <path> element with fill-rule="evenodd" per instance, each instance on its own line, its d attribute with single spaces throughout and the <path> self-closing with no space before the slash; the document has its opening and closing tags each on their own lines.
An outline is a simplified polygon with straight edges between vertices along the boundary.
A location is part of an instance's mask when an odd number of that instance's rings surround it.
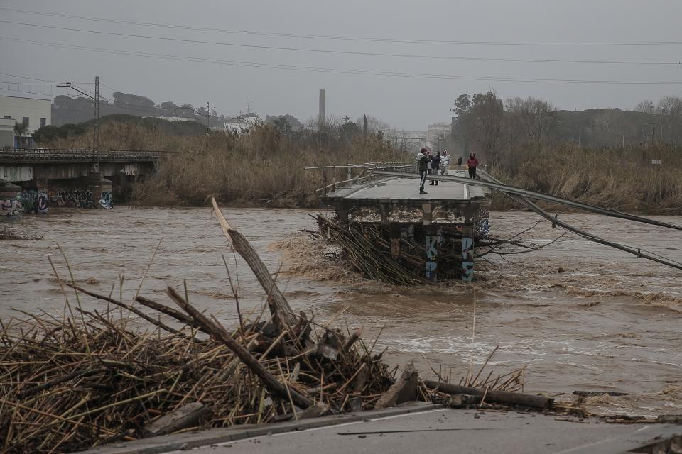
<svg viewBox="0 0 682 454">
<path fill-rule="evenodd" d="M 19 96 L 0 96 L 0 146 L 19 146 L 21 138 L 14 135 L 14 125 L 23 123 L 30 137 L 38 128 L 52 124 L 52 101 L 50 99 L 22 98 Z M 9 123 L 11 123 L 11 143 L 8 143 Z M 29 138 L 28 141 L 31 139 Z M 24 143 L 23 145 L 30 145 Z"/>
</svg>

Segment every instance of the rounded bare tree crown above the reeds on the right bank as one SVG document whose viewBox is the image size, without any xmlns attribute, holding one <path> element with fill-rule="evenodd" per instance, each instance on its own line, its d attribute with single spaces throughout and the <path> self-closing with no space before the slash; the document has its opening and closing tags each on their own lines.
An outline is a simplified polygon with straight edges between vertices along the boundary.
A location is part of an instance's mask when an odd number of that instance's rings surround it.
<svg viewBox="0 0 682 454">
<path fill-rule="evenodd" d="M 536 98 L 507 99 L 511 125 L 526 142 L 542 143 L 556 125 L 556 107 Z"/>
</svg>

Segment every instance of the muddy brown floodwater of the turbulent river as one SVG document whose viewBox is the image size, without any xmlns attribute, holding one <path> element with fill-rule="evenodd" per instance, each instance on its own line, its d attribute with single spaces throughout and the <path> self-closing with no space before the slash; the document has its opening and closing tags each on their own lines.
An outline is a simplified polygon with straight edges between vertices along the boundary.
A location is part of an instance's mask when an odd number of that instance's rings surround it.
<svg viewBox="0 0 682 454">
<path fill-rule="evenodd" d="M 425 287 L 388 287 L 352 275 L 328 251 L 300 233 L 313 228 L 311 211 L 226 209 L 279 279 L 296 311 L 316 320 L 364 326 L 381 332 L 377 350 L 388 347 L 395 365 L 413 361 L 425 375 L 438 370 L 466 374 L 499 346 L 487 367 L 502 374 L 526 367 L 525 388 L 570 393 L 575 389 L 637 393 L 596 399 L 610 411 L 655 416 L 682 413 L 682 271 L 567 234 L 532 253 L 479 260 L 482 280 Z M 585 214 L 564 221 L 604 238 L 641 247 L 682 262 L 682 232 Z M 508 238 L 534 226 L 538 217 L 519 212 L 491 214 L 491 233 Z M 682 225 L 681 217 L 660 217 Z M 19 226 L 43 240 L 0 241 L 0 318 L 17 311 L 61 311 L 63 295 L 48 263 L 67 277 L 59 243 L 75 279 L 96 292 L 132 299 L 159 240 L 141 294 L 172 304 L 167 285 L 186 279 L 190 301 L 218 319 L 237 317 L 224 254 L 239 281 L 245 312 L 261 307 L 264 293 L 247 265 L 227 249 L 210 209 L 55 211 L 27 216 Z M 546 244 L 561 234 L 542 222 L 521 238 Z M 121 276 L 123 286 L 119 288 Z M 113 290 L 112 290 L 113 288 Z M 473 293 L 476 329 L 472 342 Z M 85 297 L 84 305 L 100 307 Z M 486 375 L 487 375 L 486 370 Z M 605 402 L 609 400 L 609 402 Z"/>
</svg>

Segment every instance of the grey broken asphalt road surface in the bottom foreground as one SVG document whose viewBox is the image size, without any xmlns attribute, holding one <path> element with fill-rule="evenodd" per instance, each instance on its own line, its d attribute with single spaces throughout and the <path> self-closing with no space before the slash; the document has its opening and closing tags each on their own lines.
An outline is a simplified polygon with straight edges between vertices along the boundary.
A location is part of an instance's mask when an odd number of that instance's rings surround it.
<svg viewBox="0 0 682 454">
<path fill-rule="evenodd" d="M 681 439 L 682 426 L 674 424 L 610 424 L 409 402 L 358 414 L 160 436 L 85 453 L 666 453 L 675 452 L 671 443 Z"/>
</svg>

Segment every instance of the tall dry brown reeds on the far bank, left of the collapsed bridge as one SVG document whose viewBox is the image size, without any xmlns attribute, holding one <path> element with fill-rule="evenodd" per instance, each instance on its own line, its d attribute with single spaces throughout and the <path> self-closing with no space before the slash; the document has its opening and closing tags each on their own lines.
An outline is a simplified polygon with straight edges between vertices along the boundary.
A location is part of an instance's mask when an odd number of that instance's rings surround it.
<svg viewBox="0 0 682 454">
<path fill-rule="evenodd" d="M 170 135 L 144 123 L 107 122 L 100 126 L 100 144 L 102 149 L 177 152 L 159 163 L 156 175 L 134 185 L 131 203 L 138 206 L 201 206 L 211 195 L 243 206 L 314 206 L 323 175 L 304 167 L 411 159 L 380 134 L 364 134 L 352 122 L 328 124 L 321 131 L 264 125 L 242 134 L 214 131 L 192 137 Z M 92 133 L 41 145 L 88 148 Z M 334 177 L 347 179 L 347 169 L 329 172 L 328 182 Z"/>
</svg>

